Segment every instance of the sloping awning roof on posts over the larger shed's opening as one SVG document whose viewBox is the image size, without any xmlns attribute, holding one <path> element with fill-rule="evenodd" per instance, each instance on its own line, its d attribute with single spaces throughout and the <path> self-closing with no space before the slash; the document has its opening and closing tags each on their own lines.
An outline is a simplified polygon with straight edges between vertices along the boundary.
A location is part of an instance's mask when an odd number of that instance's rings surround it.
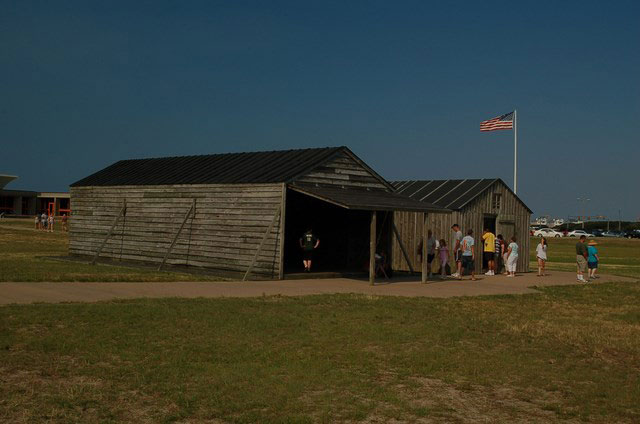
<svg viewBox="0 0 640 424">
<path fill-rule="evenodd" d="M 343 189 L 301 185 L 289 185 L 289 188 L 346 209 L 372 211 L 451 212 L 445 208 L 384 190 Z"/>
</svg>

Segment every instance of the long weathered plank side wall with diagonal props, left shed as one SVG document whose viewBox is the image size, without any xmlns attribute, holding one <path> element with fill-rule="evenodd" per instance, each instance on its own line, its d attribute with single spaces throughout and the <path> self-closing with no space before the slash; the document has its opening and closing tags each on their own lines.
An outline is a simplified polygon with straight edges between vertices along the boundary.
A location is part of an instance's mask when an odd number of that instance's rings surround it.
<svg viewBox="0 0 640 424">
<path fill-rule="evenodd" d="M 72 187 L 69 252 L 94 255 L 126 199 L 126 217 L 100 256 L 159 264 L 196 199 L 195 218 L 186 221 L 166 263 L 244 272 L 283 193 L 281 183 Z M 278 277 L 282 222 L 274 225 L 254 273 Z"/>
</svg>

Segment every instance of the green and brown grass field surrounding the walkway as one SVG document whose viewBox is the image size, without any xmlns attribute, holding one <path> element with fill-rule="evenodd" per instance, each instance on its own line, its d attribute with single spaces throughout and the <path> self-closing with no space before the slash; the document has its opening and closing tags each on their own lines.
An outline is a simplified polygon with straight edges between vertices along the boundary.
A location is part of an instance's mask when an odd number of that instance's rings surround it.
<svg viewBox="0 0 640 424">
<path fill-rule="evenodd" d="M 192 277 L 44 260 L 65 253 L 64 235 L 20 225 L 0 223 L 5 281 Z M 573 244 L 550 241 L 550 267 L 573 269 Z M 599 247 L 640 277 L 636 246 Z M 635 423 L 638 364 L 640 283 L 9 305 L 0 422 Z"/>
</svg>

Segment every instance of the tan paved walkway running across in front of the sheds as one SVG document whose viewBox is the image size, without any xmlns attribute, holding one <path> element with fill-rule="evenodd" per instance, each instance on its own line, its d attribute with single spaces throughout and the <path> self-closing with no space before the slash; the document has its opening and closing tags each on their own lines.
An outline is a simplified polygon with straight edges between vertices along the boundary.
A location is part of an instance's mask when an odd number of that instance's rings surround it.
<svg viewBox="0 0 640 424">
<path fill-rule="evenodd" d="M 601 276 L 597 282 L 635 281 Z M 478 281 L 435 280 L 421 284 L 417 278 L 394 278 L 370 286 L 367 281 L 332 278 L 249 282 L 176 283 L 0 283 L 0 304 L 33 302 L 97 302 L 112 299 L 158 297 L 256 297 L 304 296 L 325 293 L 363 293 L 381 296 L 455 297 L 535 293 L 532 286 L 577 284 L 574 273 L 553 271 L 549 276 L 522 274 L 516 278 L 482 276 Z"/>
</svg>

